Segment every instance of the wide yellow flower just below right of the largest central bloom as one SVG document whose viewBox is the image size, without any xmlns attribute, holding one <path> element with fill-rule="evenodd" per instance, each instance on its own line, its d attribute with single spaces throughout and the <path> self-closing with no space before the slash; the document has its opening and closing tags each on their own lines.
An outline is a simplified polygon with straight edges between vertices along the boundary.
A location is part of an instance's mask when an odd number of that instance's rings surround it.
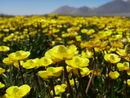
<svg viewBox="0 0 130 98">
<path fill-rule="evenodd" d="M 80 56 L 74 56 L 72 60 L 66 60 L 65 62 L 67 65 L 73 68 L 82 68 L 88 66 L 89 59 Z"/>
</svg>

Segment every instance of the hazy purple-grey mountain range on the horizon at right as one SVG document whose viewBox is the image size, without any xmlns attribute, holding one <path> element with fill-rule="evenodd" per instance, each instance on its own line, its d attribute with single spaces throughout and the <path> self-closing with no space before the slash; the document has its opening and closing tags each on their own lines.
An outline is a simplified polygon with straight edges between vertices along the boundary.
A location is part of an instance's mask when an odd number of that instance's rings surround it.
<svg viewBox="0 0 130 98">
<path fill-rule="evenodd" d="M 97 8 L 89 8 L 86 6 L 74 8 L 70 6 L 63 6 L 55 10 L 53 13 L 62 15 L 121 15 L 130 16 L 130 0 L 112 0 Z"/>
</svg>

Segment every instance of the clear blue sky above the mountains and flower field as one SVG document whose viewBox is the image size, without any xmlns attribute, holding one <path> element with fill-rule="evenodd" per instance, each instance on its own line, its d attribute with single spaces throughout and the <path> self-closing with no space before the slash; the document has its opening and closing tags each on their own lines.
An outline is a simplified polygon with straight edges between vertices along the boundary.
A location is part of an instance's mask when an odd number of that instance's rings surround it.
<svg viewBox="0 0 130 98">
<path fill-rule="evenodd" d="M 45 14 L 60 6 L 97 7 L 111 0 L 0 0 L 0 13 L 12 15 Z"/>
</svg>

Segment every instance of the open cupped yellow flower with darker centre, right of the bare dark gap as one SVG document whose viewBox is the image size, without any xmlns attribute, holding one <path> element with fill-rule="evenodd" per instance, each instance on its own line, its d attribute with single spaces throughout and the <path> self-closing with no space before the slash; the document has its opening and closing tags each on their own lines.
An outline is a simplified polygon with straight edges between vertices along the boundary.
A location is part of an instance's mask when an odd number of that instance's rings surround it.
<svg viewBox="0 0 130 98">
<path fill-rule="evenodd" d="M 105 54 L 104 59 L 110 63 L 118 63 L 121 60 L 121 58 L 114 53 Z"/>
</svg>

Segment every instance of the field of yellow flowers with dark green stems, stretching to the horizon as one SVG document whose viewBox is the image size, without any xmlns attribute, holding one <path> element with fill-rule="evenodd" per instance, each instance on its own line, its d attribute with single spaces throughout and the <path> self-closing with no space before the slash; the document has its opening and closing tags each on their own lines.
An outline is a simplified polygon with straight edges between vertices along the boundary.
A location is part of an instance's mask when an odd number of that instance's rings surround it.
<svg viewBox="0 0 130 98">
<path fill-rule="evenodd" d="M 0 17 L 0 98 L 130 98 L 130 19 Z"/>
</svg>

